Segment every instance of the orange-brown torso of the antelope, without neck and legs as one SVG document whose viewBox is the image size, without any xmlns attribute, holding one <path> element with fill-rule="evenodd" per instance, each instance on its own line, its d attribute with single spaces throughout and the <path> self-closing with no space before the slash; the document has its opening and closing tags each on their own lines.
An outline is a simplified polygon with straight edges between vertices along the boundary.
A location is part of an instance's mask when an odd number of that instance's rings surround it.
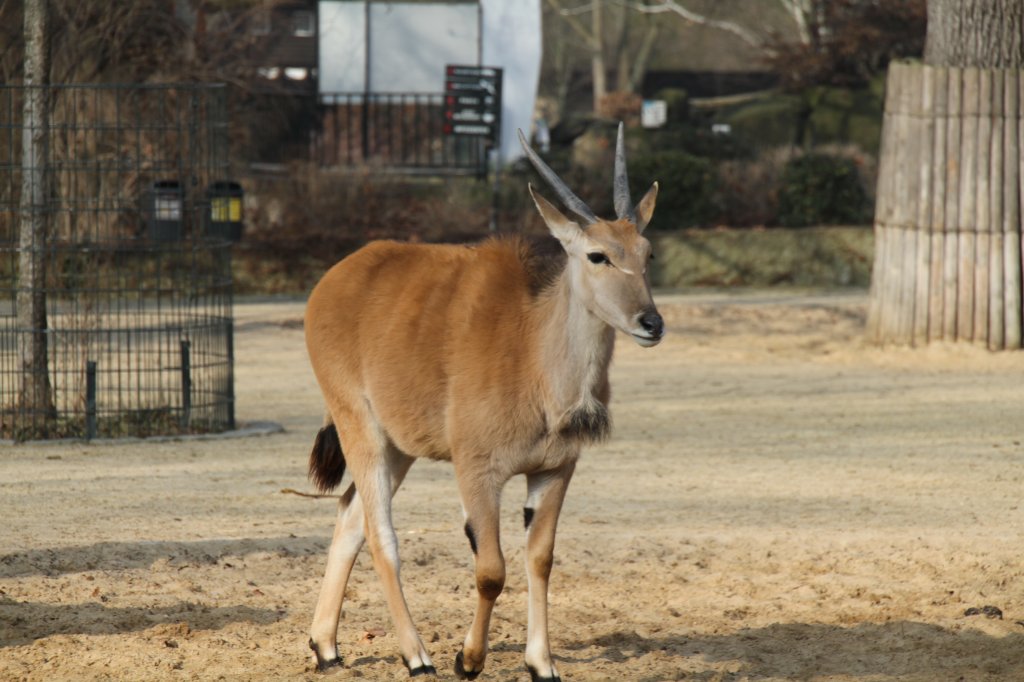
<svg viewBox="0 0 1024 682">
<path fill-rule="evenodd" d="M 507 438 L 500 432 L 517 428 L 513 403 L 525 401 L 541 371 L 528 311 L 544 276 L 517 242 L 378 242 L 345 258 L 306 307 L 306 344 L 332 413 L 365 406 L 384 435 L 419 457 L 450 459 L 459 429 Z M 496 414 L 508 416 L 497 427 Z"/>
</svg>

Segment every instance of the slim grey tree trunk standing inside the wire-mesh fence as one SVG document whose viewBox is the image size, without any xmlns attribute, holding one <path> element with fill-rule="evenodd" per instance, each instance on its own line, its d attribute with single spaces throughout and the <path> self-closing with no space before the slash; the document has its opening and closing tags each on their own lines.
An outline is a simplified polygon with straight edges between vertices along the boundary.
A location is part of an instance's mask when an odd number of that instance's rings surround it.
<svg viewBox="0 0 1024 682">
<path fill-rule="evenodd" d="M 47 369 L 45 255 L 46 159 L 49 136 L 47 0 L 25 4 L 25 89 L 18 225 L 17 327 L 22 363 L 18 414 L 27 437 L 48 435 L 54 419 Z M 15 434 L 17 435 L 17 434 Z"/>
</svg>

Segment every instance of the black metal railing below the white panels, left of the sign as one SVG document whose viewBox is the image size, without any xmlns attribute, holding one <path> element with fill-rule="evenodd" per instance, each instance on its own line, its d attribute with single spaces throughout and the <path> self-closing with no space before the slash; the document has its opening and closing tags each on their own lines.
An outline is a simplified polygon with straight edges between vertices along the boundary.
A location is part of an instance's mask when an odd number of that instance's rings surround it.
<svg viewBox="0 0 1024 682">
<path fill-rule="evenodd" d="M 373 166 L 433 173 L 486 172 L 479 137 L 444 133 L 440 93 L 331 92 L 314 154 L 322 166 Z"/>
</svg>

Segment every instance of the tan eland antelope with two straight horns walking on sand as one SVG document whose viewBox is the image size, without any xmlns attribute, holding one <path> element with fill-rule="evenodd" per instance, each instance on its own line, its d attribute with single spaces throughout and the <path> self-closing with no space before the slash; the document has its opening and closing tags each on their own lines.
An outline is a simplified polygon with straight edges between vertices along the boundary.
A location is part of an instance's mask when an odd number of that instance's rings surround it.
<svg viewBox="0 0 1024 682">
<path fill-rule="evenodd" d="M 309 475 L 327 492 L 347 468 L 309 647 L 318 670 L 340 666 L 345 586 L 366 541 L 411 675 L 434 674 L 406 604 L 391 498 L 416 458 L 455 466 L 475 555 L 476 614 L 455 671 L 483 670 L 495 600 L 505 585 L 499 505 L 526 477 L 525 660 L 534 680 L 558 680 L 548 643 L 555 525 L 583 444 L 608 435 L 608 365 L 615 330 L 644 347 L 665 332 L 642 237 L 655 182 L 635 206 L 623 126 L 614 165 L 617 218 L 602 220 L 519 140 L 580 220 L 529 186 L 554 239 L 499 238 L 475 246 L 375 242 L 331 268 L 309 296 L 306 345 L 327 402 Z"/>
</svg>

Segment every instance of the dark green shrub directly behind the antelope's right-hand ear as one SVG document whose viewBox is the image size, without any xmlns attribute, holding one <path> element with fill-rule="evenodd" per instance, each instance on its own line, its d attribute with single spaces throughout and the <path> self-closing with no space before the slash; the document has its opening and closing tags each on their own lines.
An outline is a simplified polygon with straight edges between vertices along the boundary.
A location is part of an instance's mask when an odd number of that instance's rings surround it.
<svg viewBox="0 0 1024 682">
<path fill-rule="evenodd" d="M 706 225 L 717 214 L 715 167 L 685 152 L 654 152 L 630 160 L 633 199 L 639 201 L 657 180 L 657 208 L 651 228 Z M 639 184 L 643 182 L 643 184 Z"/>
</svg>

